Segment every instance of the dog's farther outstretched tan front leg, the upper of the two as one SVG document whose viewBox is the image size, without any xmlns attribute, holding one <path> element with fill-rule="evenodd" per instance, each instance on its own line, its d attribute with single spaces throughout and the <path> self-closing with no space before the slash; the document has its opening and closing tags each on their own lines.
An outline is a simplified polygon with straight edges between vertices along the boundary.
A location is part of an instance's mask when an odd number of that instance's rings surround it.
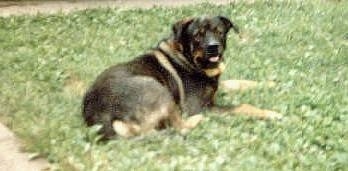
<svg viewBox="0 0 348 171">
<path fill-rule="evenodd" d="M 260 83 L 251 80 L 224 80 L 220 82 L 220 88 L 224 91 L 241 91 L 251 88 L 255 88 L 260 85 L 265 85 L 267 87 L 274 87 L 275 82 L 267 81 L 265 83 Z"/>
</svg>

